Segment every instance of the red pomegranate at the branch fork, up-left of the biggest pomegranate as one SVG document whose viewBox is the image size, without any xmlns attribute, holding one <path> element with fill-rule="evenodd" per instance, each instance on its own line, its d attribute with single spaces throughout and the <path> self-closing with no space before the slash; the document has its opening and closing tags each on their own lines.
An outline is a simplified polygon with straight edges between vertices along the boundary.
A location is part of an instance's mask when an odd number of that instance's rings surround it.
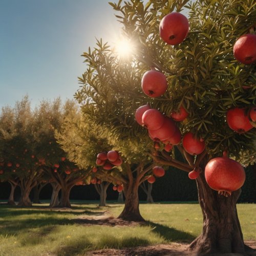
<svg viewBox="0 0 256 256">
<path fill-rule="evenodd" d="M 202 139 L 197 139 L 191 132 L 186 133 L 182 139 L 184 150 L 190 155 L 199 155 L 204 151 L 205 143 Z"/>
</svg>

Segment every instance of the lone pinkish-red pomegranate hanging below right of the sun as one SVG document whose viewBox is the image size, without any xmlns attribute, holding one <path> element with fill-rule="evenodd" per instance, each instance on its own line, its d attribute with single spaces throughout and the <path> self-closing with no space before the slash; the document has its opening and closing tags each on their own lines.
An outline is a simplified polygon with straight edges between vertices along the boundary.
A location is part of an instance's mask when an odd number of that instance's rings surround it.
<svg viewBox="0 0 256 256">
<path fill-rule="evenodd" d="M 142 76 L 141 87 L 143 92 L 152 98 L 159 97 L 165 93 L 168 84 L 165 75 L 159 71 L 146 71 Z"/>
</svg>

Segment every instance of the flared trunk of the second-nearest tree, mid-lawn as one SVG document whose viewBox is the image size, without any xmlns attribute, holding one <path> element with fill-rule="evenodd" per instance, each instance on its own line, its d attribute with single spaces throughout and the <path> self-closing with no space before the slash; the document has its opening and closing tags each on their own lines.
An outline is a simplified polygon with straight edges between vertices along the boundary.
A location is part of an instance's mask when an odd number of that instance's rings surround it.
<svg viewBox="0 0 256 256">
<path fill-rule="evenodd" d="M 125 188 L 125 201 L 124 208 L 121 214 L 118 216 L 119 219 L 127 221 L 145 221 L 140 215 L 139 210 L 139 195 L 138 188 L 139 184 L 135 181 L 130 182 L 130 184 Z"/>
</svg>

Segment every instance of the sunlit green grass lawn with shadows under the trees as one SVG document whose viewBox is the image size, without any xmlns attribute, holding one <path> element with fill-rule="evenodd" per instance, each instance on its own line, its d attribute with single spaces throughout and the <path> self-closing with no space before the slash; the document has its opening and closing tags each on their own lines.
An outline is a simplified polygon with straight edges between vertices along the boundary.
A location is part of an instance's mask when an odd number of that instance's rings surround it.
<svg viewBox="0 0 256 256">
<path fill-rule="evenodd" d="M 147 220 L 143 226 L 85 226 L 74 221 L 100 217 L 106 210 L 117 217 L 122 204 L 76 203 L 65 211 L 48 209 L 48 205 L 0 205 L 0 255 L 83 255 L 102 248 L 190 242 L 202 229 L 197 203 L 141 204 L 141 215 Z M 238 204 L 245 240 L 256 241 L 255 212 L 255 204 Z"/>
</svg>

